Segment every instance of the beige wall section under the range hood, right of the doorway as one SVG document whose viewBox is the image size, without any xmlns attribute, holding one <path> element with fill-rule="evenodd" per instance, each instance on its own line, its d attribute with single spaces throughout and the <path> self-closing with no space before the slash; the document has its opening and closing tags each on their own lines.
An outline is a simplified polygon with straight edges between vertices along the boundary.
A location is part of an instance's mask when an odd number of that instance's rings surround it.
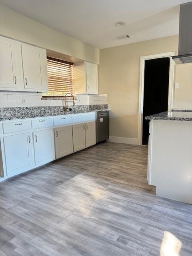
<svg viewBox="0 0 192 256">
<path fill-rule="evenodd" d="M 192 109 L 192 63 L 175 66 L 175 83 L 173 108 Z"/>
</svg>

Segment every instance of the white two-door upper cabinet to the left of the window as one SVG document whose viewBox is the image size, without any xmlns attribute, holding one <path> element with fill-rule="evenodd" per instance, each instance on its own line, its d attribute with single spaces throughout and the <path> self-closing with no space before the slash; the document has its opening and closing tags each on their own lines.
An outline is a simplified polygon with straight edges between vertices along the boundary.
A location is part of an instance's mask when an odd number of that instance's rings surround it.
<svg viewBox="0 0 192 256">
<path fill-rule="evenodd" d="M 46 50 L 0 36 L 0 90 L 47 92 Z"/>
</svg>

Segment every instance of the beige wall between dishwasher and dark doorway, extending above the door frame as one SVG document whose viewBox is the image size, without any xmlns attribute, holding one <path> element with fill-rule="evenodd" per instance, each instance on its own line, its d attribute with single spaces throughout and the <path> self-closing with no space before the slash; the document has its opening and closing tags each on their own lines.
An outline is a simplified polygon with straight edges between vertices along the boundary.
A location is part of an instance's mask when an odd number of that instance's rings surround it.
<svg viewBox="0 0 192 256">
<path fill-rule="evenodd" d="M 178 50 L 178 36 L 100 50 L 99 93 L 109 94 L 110 136 L 138 138 L 140 56 Z"/>
</svg>

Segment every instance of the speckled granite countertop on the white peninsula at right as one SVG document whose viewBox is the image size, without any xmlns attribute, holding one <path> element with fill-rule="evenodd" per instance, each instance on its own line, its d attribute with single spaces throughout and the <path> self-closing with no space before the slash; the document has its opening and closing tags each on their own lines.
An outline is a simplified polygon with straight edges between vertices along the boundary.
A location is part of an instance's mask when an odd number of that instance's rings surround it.
<svg viewBox="0 0 192 256">
<path fill-rule="evenodd" d="M 162 112 L 152 116 L 146 116 L 146 120 L 175 120 L 175 121 L 192 121 L 192 111 L 170 111 Z"/>
</svg>

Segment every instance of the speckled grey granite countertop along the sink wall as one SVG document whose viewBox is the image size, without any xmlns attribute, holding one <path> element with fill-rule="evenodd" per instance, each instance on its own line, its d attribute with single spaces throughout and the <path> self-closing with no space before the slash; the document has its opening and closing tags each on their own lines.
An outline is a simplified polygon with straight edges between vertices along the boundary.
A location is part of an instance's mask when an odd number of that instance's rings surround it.
<svg viewBox="0 0 192 256">
<path fill-rule="evenodd" d="M 64 112 L 63 107 L 60 106 L 0 108 L 0 121 L 97 112 L 108 110 L 108 104 L 81 105 L 70 107 L 70 109 Z"/>
</svg>

